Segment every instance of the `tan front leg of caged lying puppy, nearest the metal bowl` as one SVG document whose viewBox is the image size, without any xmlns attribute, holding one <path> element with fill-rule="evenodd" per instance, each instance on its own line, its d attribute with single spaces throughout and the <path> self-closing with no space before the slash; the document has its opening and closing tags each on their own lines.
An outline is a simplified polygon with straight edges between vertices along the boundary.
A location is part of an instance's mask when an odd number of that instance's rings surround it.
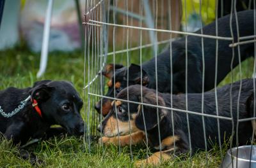
<svg viewBox="0 0 256 168">
<path fill-rule="evenodd" d="M 134 167 L 146 167 L 147 164 L 148 165 L 158 165 L 158 164 L 161 164 L 161 162 L 166 162 L 167 160 L 172 158 L 170 155 L 170 153 L 172 153 L 172 151 L 174 151 L 174 148 L 171 148 L 171 149 L 165 150 L 165 151 L 157 151 L 152 156 L 135 162 Z"/>
</svg>

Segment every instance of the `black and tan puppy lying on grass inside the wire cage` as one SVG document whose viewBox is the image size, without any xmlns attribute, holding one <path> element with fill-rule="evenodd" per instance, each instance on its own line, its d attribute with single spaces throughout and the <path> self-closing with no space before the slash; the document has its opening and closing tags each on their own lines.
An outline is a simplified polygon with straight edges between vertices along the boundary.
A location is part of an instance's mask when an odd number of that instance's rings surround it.
<svg viewBox="0 0 256 168">
<path fill-rule="evenodd" d="M 233 84 L 232 87 L 232 114 L 234 120 L 234 128 L 237 125 L 237 111 L 239 111 L 239 119 L 253 117 L 253 80 L 242 81 L 241 94 L 239 96 L 239 81 Z M 156 90 L 142 87 L 143 95 L 141 97 L 141 86 L 132 85 L 122 90 L 116 98 L 127 100 L 127 89 L 129 89 L 129 101 L 143 102 L 145 104 L 156 105 Z M 218 114 L 230 118 L 230 85 L 218 88 Z M 175 109 L 186 109 L 186 95 L 171 95 L 158 93 L 158 105 L 164 107 L 173 107 Z M 238 104 L 237 104 L 238 103 Z M 237 109 L 239 107 L 239 109 Z M 116 109 L 116 110 L 115 110 Z M 188 94 L 188 110 L 196 113 L 202 113 L 202 94 Z M 143 111 L 143 112 L 142 112 Z M 143 113 L 145 125 L 143 122 Z M 204 113 L 207 115 L 216 116 L 216 102 L 214 92 L 205 92 L 204 94 Z M 145 130 L 147 130 L 148 141 L 151 146 L 159 150 L 159 132 L 157 126 L 157 108 L 147 105 L 139 105 L 125 101 L 113 101 L 112 110 L 104 118 L 99 125 L 98 130 L 104 134 L 100 139 L 104 144 L 118 145 L 118 136 L 122 146 L 130 143 L 130 127 L 129 114 L 131 118 L 131 142 L 132 144 L 139 143 L 145 139 Z M 160 161 L 160 155 L 163 160 L 167 160 L 170 154 L 175 151 L 175 154 L 189 152 L 189 133 L 186 113 L 170 109 L 158 108 L 159 128 L 161 137 L 162 153 L 154 153 L 148 158 L 148 163 L 157 164 Z M 116 118 L 117 116 L 117 118 Z M 202 116 L 189 114 L 189 127 L 191 134 L 191 153 L 196 150 L 205 149 L 204 130 Z M 220 120 L 220 141 L 223 143 L 232 136 L 231 120 Z M 172 122 L 173 121 L 173 122 Z M 207 148 L 212 148 L 212 142 L 218 142 L 218 122 L 217 118 L 204 116 L 205 121 L 205 137 L 207 138 Z M 174 132 L 173 132 L 174 130 Z M 240 122 L 238 132 L 239 145 L 246 144 L 252 137 L 252 124 L 248 122 Z M 118 133 L 119 132 L 119 133 Z M 236 134 L 234 134 L 234 142 L 236 144 Z M 117 136 L 117 137 L 115 137 Z M 173 143 L 175 142 L 175 149 Z M 138 165 L 145 164 L 146 160 L 137 162 Z"/>
</svg>

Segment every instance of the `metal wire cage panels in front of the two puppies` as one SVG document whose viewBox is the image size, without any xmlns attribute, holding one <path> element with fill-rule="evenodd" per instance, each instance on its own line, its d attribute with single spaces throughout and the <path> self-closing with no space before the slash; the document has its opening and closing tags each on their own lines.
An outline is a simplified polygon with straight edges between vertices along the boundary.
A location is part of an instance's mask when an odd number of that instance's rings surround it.
<svg viewBox="0 0 256 168">
<path fill-rule="evenodd" d="M 253 5 L 250 6 L 250 8 L 255 9 L 255 1 L 252 3 Z M 90 151 L 91 144 L 92 144 L 92 137 L 102 137 L 102 134 L 100 132 L 97 132 L 97 125 L 99 125 L 100 122 L 104 119 L 102 115 L 99 115 L 97 111 L 95 111 L 94 106 L 95 103 L 98 102 L 102 98 L 108 98 L 111 99 L 111 101 L 117 101 L 120 99 L 116 99 L 116 88 L 113 87 L 114 95 L 113 97 L 106 96 L 106 91 L 108 90 L 106 82 L 108 79 L 106 79 L 102 75 L 102 71 L 104 71 L 104 68 L 108 64 L 123 64 L 124 66 L 130 66 L 131 63 L 137 62 L 138 64 L 141 64 L 149 59 L 152 59 L 155 57 L 155 69 L 157 71 L 157 55 L 162 51 L 166 50 L 166 46 L 170 46 L 168 50 L 170 50 L 170 58 L 172 58 L 173 48 L 172 43 L 173 40 L 179 38 L 179 36 L 184 36 L 186 39 L 186 109 L 175 109 L 171 105 L 171 107 L 165 107 L 165 106 L 159 106 L 158 101 L 158 92 L 156 92 L 156 104 L 145 104 L 143 101 L 141 102 L 133 102 L 129 101 L 129 97 L 127 97 L 127 100 L 121 100 L 124 102 L 128 102 L 128 106 L 130 106 L 132 103 L 134 104 L 141 104 L 143 106 L 153 106 L 156 107 L 156 110 L 159 109 L 168 109 L 172 113 L 172 124 L 173 122 L 173 111 L 179 112 L 179 113 L 186 113 L 186 120 L 187 120 L 187 127 L 188 127 L 188 136 L 189 136 L 189 152 L 191 156 L 191 138 L 190 138 L 190 128 L 189 128 L 189 115 L 199 115 L 202 117 L 202 127 L 204 130 L 204 143 L 205 143 L 205 151 L 208 150 L 207 148 L 207 137 L 205 133 L 205 118 L 211 117 L 216 118 L 218 122 L 218 146 L 220 148 L 221 158 L 223 158 L 223 155 L 225 153 L 222 153 L 223 149 L 221 146 L 221 139 L 220 139 L 220 120 L 227 120 L 232 121 L 232 130 L 233 132 L 238 132 L 238 125 L 240 122 L 248 121 L 248 120 L 255 120 L 255 110 L 254 110 L 254 117 L 253 118 L 247 118 L 245 119 L 239 119 L 239 104 L 237 103 L 237 116 L 236 121 L 234 121 L 234 116 L 232 116 L 232 87 L 230 88 L 230 117 L 227 116 L 221 116 L 219 114 L 219 108 L 218 108 L 218 93 L 217 93 L 217 78 L 218 78 L 218 43 L 221 40 L 230 41 L 230 47 L 232 48 L 233 52 L 233 59 L 234 59 L 234 50 L 238 50 L 240 48 L 240 45 L 245 45 L 246 43 L 254 43 L 254 55 L 256 55 L 256 24 L 254 20 L 254 34 L 252 36 L 244 36 L 240 37 L 239 32 L 237 31 L 237 41 L 235 43 L 234 41 L 234 35 L 231 34 L 231 36 L 223 37 L 218 36 L 218 15 L 217 13 L 221 13 L 223 15 L 223 1 L 218 0 L 214 4 L 216 7 L 214 9 L 215 11 L 215 18 L 212 20 L 216 24 L 216 35 L 210 36 L 207 34 L 204 34 L 203 30 L 201 29 L 200 34 L 196 34 L 193 32 L 188 32 L 188 29 L 191 28 L 191 25 L 189 25 L 189 14 L 196 13 L 198 16 L 198 20 L 195 20 L 198 22 L 197 28 L 204 27 L 205 20 L 209 19 L 209 13 L 207 13 L 207 10 L 204 10 L 204 17 L 203 17 L 203 9 L 209 7 L 209 1 L 186 1 L 184 0 L 181 4 L 181 1 L 168 1 L 168 0 L 159 0 L 159 1 L 148 1 L 148 0 L 123 0 L 123 1 L 104 1 L 104 0 L 87 0 L 86 1 L 86 11 L 84 14 L 84 25 L 85 25 L 85 51 L 84 51 L 84 98 L 86 100 L 86 108 L 85 108 L 85 118 L 86 118 L 86 139 L 84 141 L 84 144 L 88 146 L 88 149 Z M 192 9 L 191 9 L 192 6 Z M 195 9 L 195 6 L 199 6 L 198 10 Z M 231 1 L 230 3 L 230 13 L 234 15 L 230 15 L 230 20 L 232 20 L 232 17 L 235 17 L 236 19 L 236 28 L 239 30 L 239 20 L 237 20 L 237 1 Z M 206 12 L 205 12 L 206 11 Z M 181 14 L 183 13 L 183 21 Z M 206 16 L 206 17 L 205 17 Z M 184 31 L 180 31 L 180 23 L 183 24 Z M 189 28 L 190 27 L 190 28 Z M 232 22 L 230 21 L 230 31 L 232 31 Z M 188 36 L 197 36 L 201 37 L 201 47 L 202 47 L 202 104 L 201 104 L 201 111 L 189 111 L 188 109 Z M 205 46 L 204 41 L 206 39 L 215 39 L 216 40 L 216 64 L 215 64 L 215 76 L 212 76 L 214 78 L 214 93 L 215 93 L 215 103 L 216 103 L 216 115 L 209 115 L 204 113 L 204 81 L 205 81 Z M 147 56 L 147 57 L 146 57 Z M 238 52 L 239 57 L 239 80 L 242 80 L 242 67 L 241 67 L 241 55 L 240 52 Z M 253 67 L 253 74 L 255 74 L 255 65 L 254 63 Z M 172 67 L 172 59 L 170 59 L 170 85 L 172 86 L 173 82 L 173 67 Z M 230 68 L 232 69 L 232 83 L 234 82 L 234 74 L 233 74 L 233 67 L 232 64 L 230 65 Z M 115 66 L 113 66 L 113 83 L 115 82 Z M 141 69 L 141 83 L 142 83 L 142 69 Z M 129 71 L 127 71 L 127 76 L 129 76 Z M 157 73 L 155 74 L 156 78 L 156 90 L 158 90 L 157 86 L 157 80 L 159 76 L 157 76 Z M 127 86 L 129 85 L 129 78 L 127 77 Z M 232 85 L 231 85 L 232 86 Z M 239 95 L 237 97 L 239 102 L 240 94 L 241 94 L 241 87 L 242 83 L 240 82 L 240 88 L 239 88 Z M 171 104 L 173 103 L 172 99 L 172 90 L 171 88 L 171 96 L 170 101 Z M 253 90 L 255 93 L 255 85 L 253 85 Z M 127 90 L 129 92 L 129 90 Z M 129 95 L 129 93 L 127 93 Z M 142 93 L 142 85 L 141 85 L 141 100 L 143 100 L 143 93 Z M 255 106 L 255 95 L 254 95 L 254 102 Z M 101 107 L 102 107 L 101 102 Z M 142 107 L 142 113 L 144 116 L 144 111 Z M 115 106 L 116 108 L 116 106 Z M 116 110 L 116 109 L 115 109 Z M 128 108 L 129 110 L 129 108 Z M 128 111 L 130 113 L 130 111 Z M 117 115 L 116 115 L 117 118 Z M 129 128 L 131 131 L 131 118 L 129 118 Z M 160 130 L 161 127 L 159 125 L 159 113 L 157 113 L 157 129 L 159 130 L 158 139 L 159 139 L 159 151 L 162 150 L 161 146 L 161 134 Z M 146 125 L 145 118 L 143 118 L 144 125 Z M 234 127 L 234 122 L 237 122 L 236 127 Z M 118 122 L 117 129 L 118 129 Z M 172 125 L 172 132 L 174 135 L 174 129 L 175 126 Z M 254 131 L 255 127 L 253 127 Z M 119 129 L 118 129 L 119 131 Z M 131 132 L 130 132 L 131 133 Z M 129 134 L 131 136 L 131 134 Z M 147 157 L 150 156 L 150 148 L 148 148 L 148 137 L 147 137 L 147 130 L 145 130 L 145 144 L 147 146 Z M 236 134 L 238 136 L 238 134 Z M 233 137 L 231 137 L 233 138 Z M 252 132 L 252 141 L 253 141 L 253 132 Z M 120 145 L 120 136 L 117 136 L 116 139 L 118 139 L 118 150 L 121 152 L 122 148 Z M 238 138 L 236 138 L 236 145 L 239 144 Z M 130 137 L 130 145 L 129 150 L 131 153 L 131 160 L 133 160 L 133 154 L 134 151 L 132 151 L 132 142 Z M 232 141 L 231 141 L 232 143 Z M 100 143 L 100 146 L 102 148 L 106 148 L 102 143 Z M 175 148 L 175 141 L 173 144 Z M 205 154 L 205 162 L 207 165 L 207 152 Z"/>
</svg>

